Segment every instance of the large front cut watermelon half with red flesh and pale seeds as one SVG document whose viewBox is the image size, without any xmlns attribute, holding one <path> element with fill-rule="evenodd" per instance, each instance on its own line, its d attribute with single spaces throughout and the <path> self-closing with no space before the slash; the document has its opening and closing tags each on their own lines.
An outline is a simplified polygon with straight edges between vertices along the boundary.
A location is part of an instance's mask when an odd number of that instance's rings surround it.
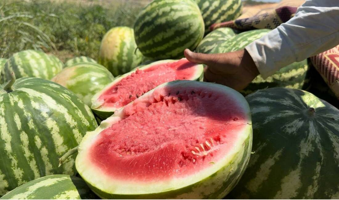
<svg viewBox="0 0 339 200">
<path fill-rule="evenodd" d="M 86 134 L 76 169 L 107 199 L 222 198 L 252 148 L 250 107 L 226 86 L 162 84 Z"/>
</svg>

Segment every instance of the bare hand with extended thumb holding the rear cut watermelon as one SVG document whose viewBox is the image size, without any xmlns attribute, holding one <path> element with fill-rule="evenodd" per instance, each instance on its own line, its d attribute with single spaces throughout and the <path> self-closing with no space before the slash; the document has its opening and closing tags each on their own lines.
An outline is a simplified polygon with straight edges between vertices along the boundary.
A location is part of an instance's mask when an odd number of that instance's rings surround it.
<svg viewBox="0 0 339 200">
<path fill-rule="evenodd" d="M 251 55 L 246 50 L 230 53 L 204 54 L 184 51 L 187 60 L 205 64 L 204 81 L 215 82 L 242 90 L 259 75 Z"/>
</svg>

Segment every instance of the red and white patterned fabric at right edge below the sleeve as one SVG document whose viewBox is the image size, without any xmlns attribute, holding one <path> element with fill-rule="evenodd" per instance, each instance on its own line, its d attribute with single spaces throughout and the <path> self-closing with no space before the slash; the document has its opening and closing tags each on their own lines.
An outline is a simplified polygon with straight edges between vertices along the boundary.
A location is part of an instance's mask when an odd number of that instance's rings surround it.
<svg viewBox="0 0 339 200">
<path fill-rule="evenodd" d="M 339 99 L 339 45 L 311 57 L 311 62 Z"/>
</svg>

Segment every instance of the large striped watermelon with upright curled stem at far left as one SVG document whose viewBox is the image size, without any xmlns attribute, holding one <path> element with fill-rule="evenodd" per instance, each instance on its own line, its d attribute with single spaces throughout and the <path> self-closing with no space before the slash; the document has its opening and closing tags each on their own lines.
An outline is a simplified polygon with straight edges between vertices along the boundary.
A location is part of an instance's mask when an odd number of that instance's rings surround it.
<svg viewBox="0 0 339 200">
<path fill-rule="evenodd" d="M 75 173 L 74 159 L 58 158 L 97 127 L 73 92 L 51 81 L 24 77 L 0 86 L 0 196 L 36 178 Z"/>
</svg>

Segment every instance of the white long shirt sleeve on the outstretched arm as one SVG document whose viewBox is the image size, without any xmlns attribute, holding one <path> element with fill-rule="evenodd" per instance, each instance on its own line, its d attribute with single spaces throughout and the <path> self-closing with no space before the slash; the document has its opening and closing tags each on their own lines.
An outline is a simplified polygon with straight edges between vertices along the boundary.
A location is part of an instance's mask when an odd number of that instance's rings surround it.
<svg viewBox="0 0 339 200">
<path fill-rule="evenodd" d="M 250 53 L 266 79 L 293 62 L 339 45 L 339 0 L 307 0 L 286 23 L 252 42 Z"/>
</svg>

